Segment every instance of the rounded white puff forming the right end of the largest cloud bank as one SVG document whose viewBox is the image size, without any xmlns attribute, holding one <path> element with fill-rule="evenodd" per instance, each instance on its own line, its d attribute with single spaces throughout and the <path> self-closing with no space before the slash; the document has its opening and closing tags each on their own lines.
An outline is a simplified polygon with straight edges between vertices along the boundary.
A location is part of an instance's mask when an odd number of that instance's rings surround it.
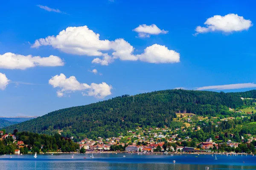
<svg viewBox="0 0 256 170">
<path fill-rule="evenodd" d="M 143 54 L 137 57 L 144 62 L 151 63 L 174 63 L 180 62 L 180 54 L 176 51 L 169 50 L 164 45 L 154 44 L 147 47 Z"/>
</svg>

